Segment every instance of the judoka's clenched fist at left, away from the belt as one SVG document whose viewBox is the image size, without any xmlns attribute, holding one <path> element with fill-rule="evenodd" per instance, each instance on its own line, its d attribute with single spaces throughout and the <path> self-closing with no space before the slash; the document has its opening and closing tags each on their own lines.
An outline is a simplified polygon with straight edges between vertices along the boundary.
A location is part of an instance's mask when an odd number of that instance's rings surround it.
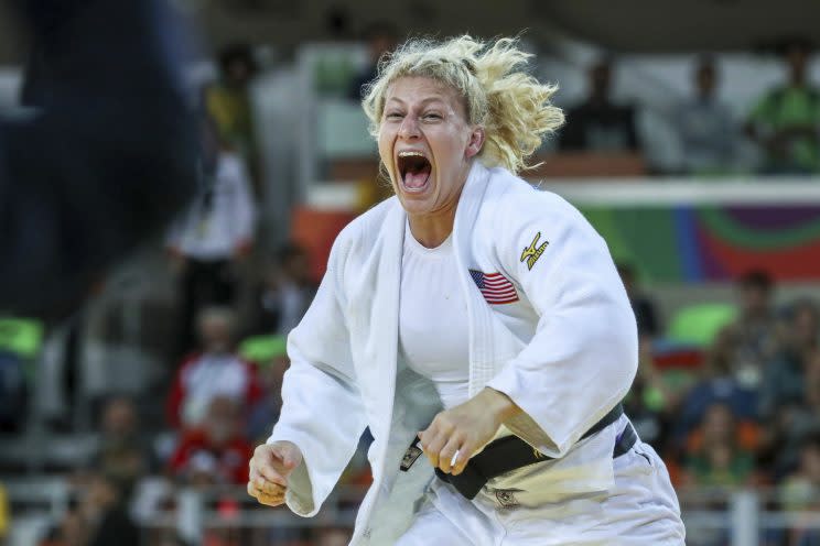
<svg viewBox="0 0 820 546">
<path fill-rule="evenodd" d="M 288 477 L 302 463 L 302 451 L 292 441 L 262 444 L 250 459 L 248 494 L 261 504 L 279 506 L 284 502 Z"/>
</svg>

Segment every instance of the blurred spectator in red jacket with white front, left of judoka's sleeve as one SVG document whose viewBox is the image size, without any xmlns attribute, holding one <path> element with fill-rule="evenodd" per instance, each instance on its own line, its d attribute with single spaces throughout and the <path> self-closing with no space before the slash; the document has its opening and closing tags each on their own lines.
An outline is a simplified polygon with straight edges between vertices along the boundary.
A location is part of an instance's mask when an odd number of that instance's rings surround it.
<svg viewBox="0 0 820 546">
<path fill-rule="evenodd" d="M 166 405 L 172 426 L 198 425 L 217 396 L 227 396 L 244 410 L 259 400 L 256 371 L 234 352 L 234 323 L 233 312 L 225 307 L 199 314 L 202 352 L 188 357 L 176 373 Z"/>
</svg>

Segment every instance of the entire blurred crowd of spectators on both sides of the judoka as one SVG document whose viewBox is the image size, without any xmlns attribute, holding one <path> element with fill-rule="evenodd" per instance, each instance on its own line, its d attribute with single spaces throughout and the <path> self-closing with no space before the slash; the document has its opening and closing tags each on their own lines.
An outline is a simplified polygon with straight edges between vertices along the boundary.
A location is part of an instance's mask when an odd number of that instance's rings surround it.
<svg viewBox="0 0 820 546">
<path fill-rule="evenodd" d="M 374 25 L 368 40 L 370 64 L 350 83 L 352 99 L 373 77 L 378 56 L 398 41 L 389 25 Z M 811 47 L 791 41 L 781 53 L 787 78 L 745 119 L 735 119 L 716 98 L 717 62 L 697 61 L 692 95 L 673 113 L 684 148 L 681 171 L 729 172 L 738 143 L 748 138 L 765 151 L 760 172 L 820 172 L 820 90 L 807 74 Z M 289 365 L 285 337 L 310 305 L 316 280 L 308 249 L 290 241 L 270 251 L 268 241 L 259 241 L 257 211 L 267 189 L 249 91 L 258 70 L 252 50 L 228 46 L 217 66 L 218 78 L 202 89 L 202 189 L 165 237 L 179 297 L 168 389 L 149 400 L 109 393 L 101 401 L 95 447 L 69 469 L 71 502 L 40 546 L 346 544 L 346 527 L 314 533 L 231 524 L 239 511 L 267 510 L 237 500 L 236 491 L 245 485 L 253 447 L 266 440 L 279 414 Z M 589 67 L 587 97 L 568 110 L 560 152 L 643 153 L 639 105 L 611 97 L 615 70 L 612 57 Z M 641 340 L 627 413 L 665 458 L 676 485 L 773 485 L 777 506 L 820 509 L 818 303 L 801 298 L 776 306 L 774 281 L 765 271 L 751 271 L 736 281 L 736 304 L 701 342 L 670 341 L 662 309 L 641 292 L 635 270 L 622 264 L 621 272 Z M 7 349 L 0 349 L 0 426 L 19 433 L 26 371 L 23 359 Z M 143 418 L 145 405 L 164 405 L 164 417 Z M 345 483 L 367 484 L 366 444 L 363 438 Z M 208 526 L 198 543 L 180 532 L 177 518 L 186 511 L 179 493 L 186 488 L 215 492 L 207 502 L 224 523 Z M 0 544 L 8 522 L 0 485 Z M 820 534 L 798 528 L 765 539 L 772 546 L 807 546 L 820 544 Z M 725 540 L 695 536 L 690 544 Z"/>
</svg>

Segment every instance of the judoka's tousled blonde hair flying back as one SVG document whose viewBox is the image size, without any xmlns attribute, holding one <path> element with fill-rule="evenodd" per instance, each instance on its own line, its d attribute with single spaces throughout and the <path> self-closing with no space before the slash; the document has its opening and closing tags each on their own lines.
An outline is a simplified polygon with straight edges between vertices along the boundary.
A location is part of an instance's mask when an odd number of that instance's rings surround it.
<svg viewBox="0 0 820 546">
<path fill-rule="evenodd" d="M 457 90 L 467 121 L 484 128 L 482 162 L 518 173 L 527 168 L 527 159 L 544 135 L 564 121 L 561 109 L 550 103 L 558 86 L 541 84 L 524 70 L 531 56 L 509 37 L 482 42 L 465 34 L 441 43 L 410 40 L 381 58 L 378 77 L 367 87 L 362 107 L 370 133 L 378 135 L 393 81 L 408 76 L 432 78 Z"/>
</svg>

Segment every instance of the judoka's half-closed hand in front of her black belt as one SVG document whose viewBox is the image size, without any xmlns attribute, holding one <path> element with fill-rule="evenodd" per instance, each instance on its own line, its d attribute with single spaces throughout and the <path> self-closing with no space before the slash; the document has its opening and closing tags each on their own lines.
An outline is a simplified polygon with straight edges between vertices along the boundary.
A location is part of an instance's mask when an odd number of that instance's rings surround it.
<svg viewBox="0 0 820 546">
<path fill-rule="evenodd" d="M 424 455 L 434 468 L 458 476 L 501 423 L 520 412 L 506 394 L 485 387 L 467 402 L 441 412 L 427 430 L 419 433 Z"/>
</svg>

